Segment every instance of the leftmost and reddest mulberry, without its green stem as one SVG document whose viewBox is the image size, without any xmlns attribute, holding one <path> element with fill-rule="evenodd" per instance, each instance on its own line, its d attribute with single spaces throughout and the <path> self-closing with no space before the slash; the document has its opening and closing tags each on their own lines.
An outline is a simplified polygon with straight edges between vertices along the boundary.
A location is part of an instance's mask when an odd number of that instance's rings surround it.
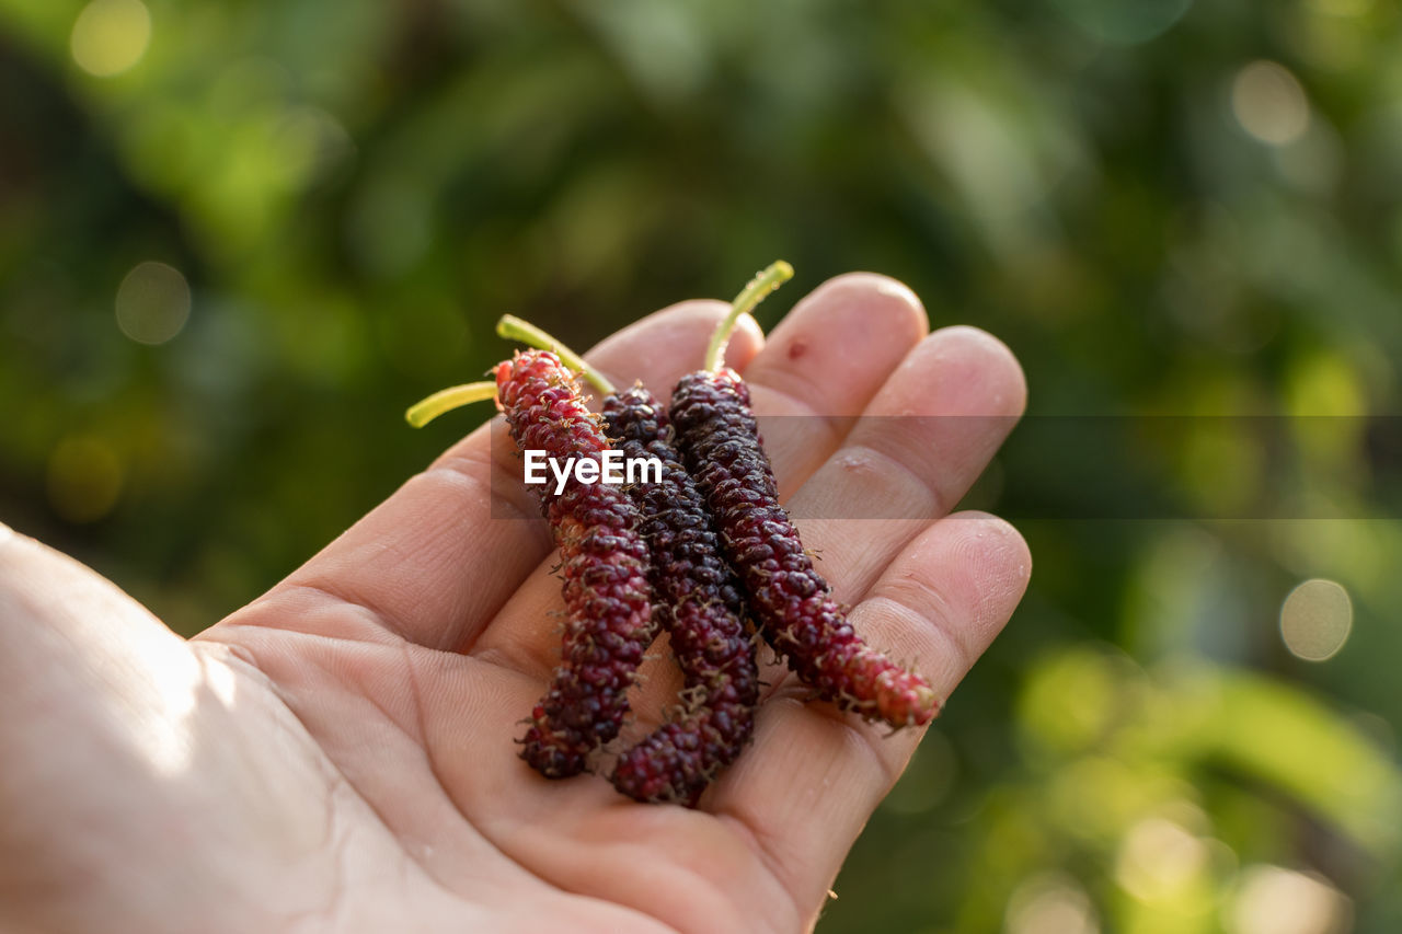
<svg viewBox="0 0 1402 934">
<path fill-rule="evenodd" d="M 531 351 L 496 367 L 498 400 L 522 450 L 599 460 L 608 439 L 573 374 L 554 353 Z M 644 652 L 656 635 L 648 544 L 638 509 L 617 485 L 571 478 L 540 492 L 561 554 L 565 632 L 550 691 L 531 711 L 522 759 L 551 778 L 579 774 L 618 735 Z"/>
</svg>

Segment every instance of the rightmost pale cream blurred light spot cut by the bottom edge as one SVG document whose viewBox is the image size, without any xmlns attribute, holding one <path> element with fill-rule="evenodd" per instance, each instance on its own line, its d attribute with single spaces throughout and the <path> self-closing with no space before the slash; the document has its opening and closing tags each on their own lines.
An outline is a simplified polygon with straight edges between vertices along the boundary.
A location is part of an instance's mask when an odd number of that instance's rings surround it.
<svg viewBox="0 0 1402 934">
<path fill-rule="evenodd" d="M 1343 934 L 1352 907 L 1323 879 L 1274 865 L 1242 874 L 1231 909 L 1232 934 Z"/>
</svg>

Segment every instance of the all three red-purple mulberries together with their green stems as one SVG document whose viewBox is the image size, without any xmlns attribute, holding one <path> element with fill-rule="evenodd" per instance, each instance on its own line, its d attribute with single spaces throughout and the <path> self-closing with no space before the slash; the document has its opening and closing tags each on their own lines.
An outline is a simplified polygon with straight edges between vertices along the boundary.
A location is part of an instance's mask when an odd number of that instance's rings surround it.
<svg viewBox="0 0 1402 934">
<path fill-rule="evenodd" d="M 712 335 L 704 367 L 677 384 L 670 411 L 641 384 L 614 391 L 578 355 L 510 316 L 498 332 L 543 349 L 501 363 L 495 383 L 444 390 L 409 410 L 422 425 L 495 394 L 522 450 L 599 460 L 613 447 L 662 463 L 660 482 L 533 487 L 561 551 L 566 609 L 561 663 L 522 739 L 522 757 L 547 777 L 586 771 L 618 736 L 659 630 L 687 701 L 617 759 L 613 784 L 638 801 L 695 806 L 753 736 L 751 628 L 843 710 L 893 728 L 925 724 L 939 710 L 930 684 L 848 624 L 780 506 L 749 390 L 721 363 L 739 318 L 791 275 L 778 262 L 750 282 Z M 604 395 L 601 417 L 587 410 L 579 377 Z"/>
</svg>

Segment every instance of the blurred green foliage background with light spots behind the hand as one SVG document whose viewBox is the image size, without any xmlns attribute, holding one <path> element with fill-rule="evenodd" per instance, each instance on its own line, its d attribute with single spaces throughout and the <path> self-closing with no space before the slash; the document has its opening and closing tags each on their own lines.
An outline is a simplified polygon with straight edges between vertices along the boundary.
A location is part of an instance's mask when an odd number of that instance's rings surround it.
<svg viewBox="0 0 1402 934">
<path fill-rule="evenodd" d="M 1385 0 L 0 0 L 0 516 L 193 632 L 447 443 L 402 410 L 499 313 L 885 272 L 1021 356 L 973 499 L 1036 568 L 819 931 L 1402 930 L 1399 49 Z"/>
</svg>

